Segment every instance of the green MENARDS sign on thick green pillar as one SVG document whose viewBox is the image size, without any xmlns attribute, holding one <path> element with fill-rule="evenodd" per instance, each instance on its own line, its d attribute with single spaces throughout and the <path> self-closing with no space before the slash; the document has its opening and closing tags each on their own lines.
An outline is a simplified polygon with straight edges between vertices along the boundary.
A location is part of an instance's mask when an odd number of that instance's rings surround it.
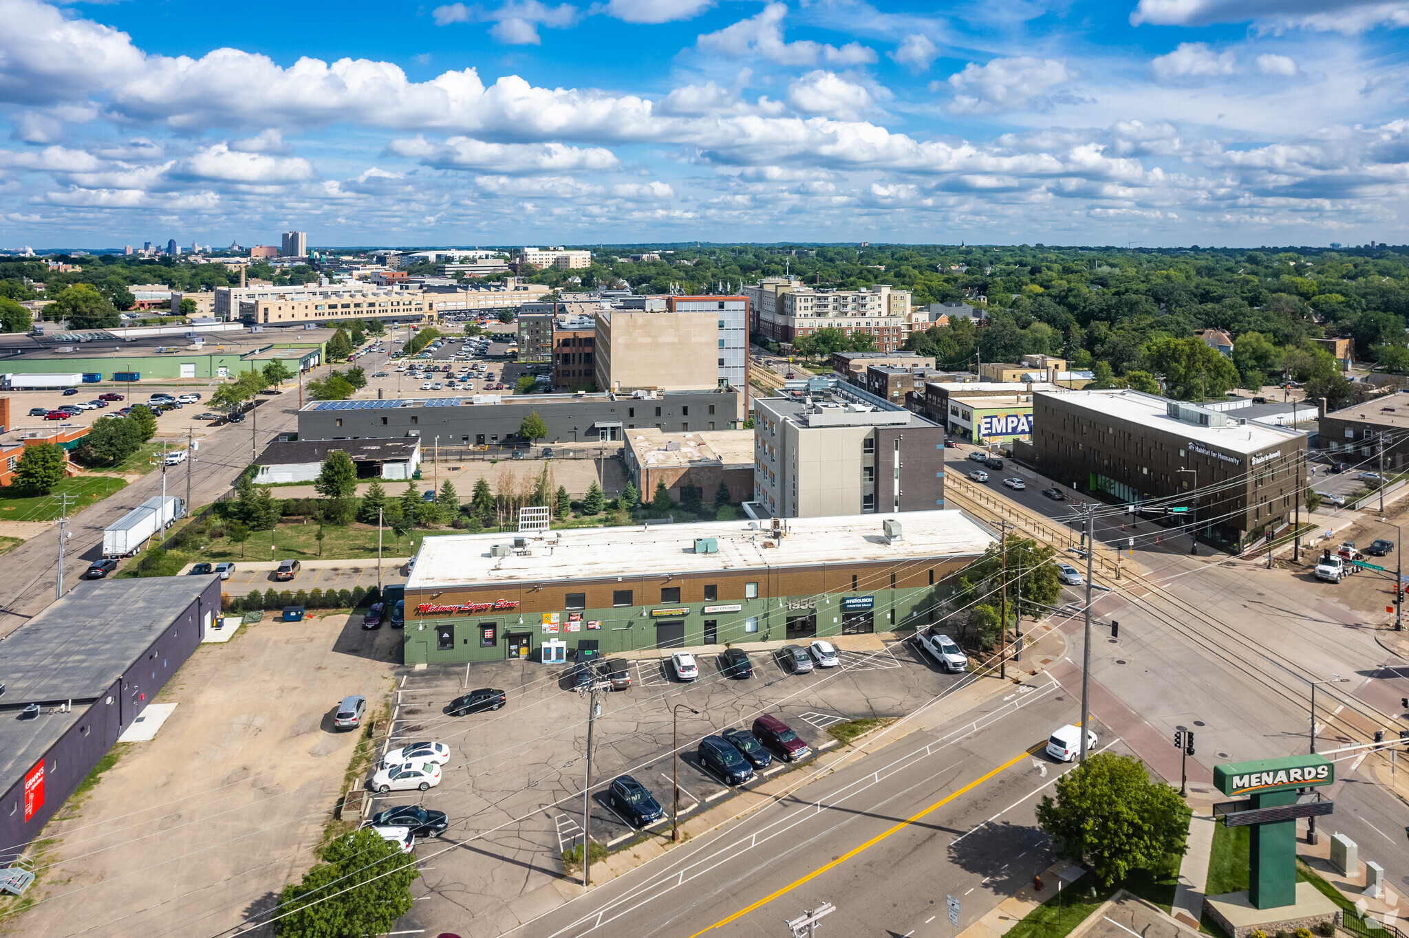
<svg viewBox="0 0 1409 938">
<path fill-rule="evenodd" d="M 1320 755 L 1213 766 L 1213 784 L 1243 799 L 1215 804 L 1215 815 L 1227 827 L 1253 827 L 1248 901 L 1254 908 L 1296 904 L 1296 818 L 1334 810 L 1334 801 L 1298 804 L 1296 797 L 1334 780 L 1334 763 Z"/>
</svg>

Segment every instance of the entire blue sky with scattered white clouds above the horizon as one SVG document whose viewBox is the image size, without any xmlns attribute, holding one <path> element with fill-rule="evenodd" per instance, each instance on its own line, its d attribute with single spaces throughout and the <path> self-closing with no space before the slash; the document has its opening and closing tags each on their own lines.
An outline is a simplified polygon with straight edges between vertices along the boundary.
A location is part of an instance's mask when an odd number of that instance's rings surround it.
<svg viewBox="0 0 1409 938">
<path fill-rule="evenodd" d="M 1405 242 L 1409 0 L 0 0 L 0 246 Z"/>
</svg>

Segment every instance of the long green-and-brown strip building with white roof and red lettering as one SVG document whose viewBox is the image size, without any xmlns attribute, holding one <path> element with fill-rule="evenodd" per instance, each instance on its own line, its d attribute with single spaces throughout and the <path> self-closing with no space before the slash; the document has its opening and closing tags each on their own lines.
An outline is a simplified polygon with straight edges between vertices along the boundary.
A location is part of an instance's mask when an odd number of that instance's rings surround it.
<svg viewBox="0 0 1409 938">
<path fill-rule="evenodd" d="M 426 538 L 404 661 L 744 645 L 936 620 L 993 541 L 960 511 Z"/>
</svg>

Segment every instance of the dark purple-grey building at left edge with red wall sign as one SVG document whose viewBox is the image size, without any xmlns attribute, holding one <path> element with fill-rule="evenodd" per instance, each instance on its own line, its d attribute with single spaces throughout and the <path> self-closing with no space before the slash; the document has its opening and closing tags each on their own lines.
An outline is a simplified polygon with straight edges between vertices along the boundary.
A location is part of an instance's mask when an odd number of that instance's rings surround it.
<svg viewBox="0 0 1409 938">
<path fill-rule="evenodd" d="M 0 865 L 142 717 L 220 614 L 220 577 L 85 580 L 0 642 Z"/>
</svg>

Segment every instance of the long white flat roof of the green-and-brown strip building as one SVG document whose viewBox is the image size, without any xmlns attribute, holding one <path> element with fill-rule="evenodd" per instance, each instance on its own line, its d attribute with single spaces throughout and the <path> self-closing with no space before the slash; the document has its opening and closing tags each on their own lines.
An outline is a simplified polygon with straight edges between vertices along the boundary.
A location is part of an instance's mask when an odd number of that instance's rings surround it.
<svg viewBox="0 0 1409 938">
<path fill-rule="evenodd" d="M 881 523 L 900 523 L 902 537 L 886 544 Z M 758 525 L 750 528 L 750 524 Z M 648 530 L 576 528 L 534 539 L 514 534 L 464 534 L 426 538 L 406 589 L 476 583 L 606 579 L 643 573 L 759 570 L 820 563 L 890 563 L 937 556 L 974 556 L 993 535 L 958 508 L 788 518 L 779 542 L 766 521 L 661 524 Z M 490 556 L 496 544 L 530 537 L 531 555 Z M 716 538 L 717 554 L 695 554 L 696 538 Z M 772 544 L 776 546 L 765 546 Z"/>
</svg>

